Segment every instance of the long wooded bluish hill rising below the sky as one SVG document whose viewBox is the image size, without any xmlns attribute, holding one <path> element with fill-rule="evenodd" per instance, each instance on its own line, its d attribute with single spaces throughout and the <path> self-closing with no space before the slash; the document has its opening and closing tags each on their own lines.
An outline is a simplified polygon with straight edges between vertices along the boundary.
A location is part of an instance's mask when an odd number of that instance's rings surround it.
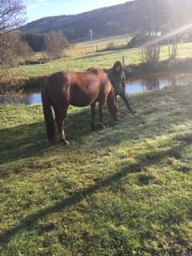
<svg viewBox="0 0 192 256">
<path fill-rule="evenodd" d="M 183 7 L 185 4 L 187 10 L 192 9 L 189 0 L 168 0 L 166 2 L 162 0 L 161 8 L 161 4 L 151 6 L 149 2 L 143 4 L 142 0 L 134 0 L 82 14 L 41 18 L 22 26 L 21 30 L 28 34 L 45 34 L 52 30 L 62 30 L 70 42 L 90 39 L 90 30 L 94 32 L 94 38 L 146 31 L 146 27 L 151 26 L 150 20 L 156 20 L 155 26 L 161 30 L 175 6 L 181 6 L 182 12 L 185 13 L 186 9 Z"/>
</svg>

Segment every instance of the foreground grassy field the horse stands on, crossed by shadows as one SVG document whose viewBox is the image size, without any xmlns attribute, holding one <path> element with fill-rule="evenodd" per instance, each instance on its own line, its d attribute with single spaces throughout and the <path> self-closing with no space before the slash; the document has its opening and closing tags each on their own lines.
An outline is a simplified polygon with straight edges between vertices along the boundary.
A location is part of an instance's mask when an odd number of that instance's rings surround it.
<svg viewBox="0 0 192 256">
<path fill-rule="evenodd" d="M 0 106 L 1 256 L 190 255 L 192 86 L 130 101 L 95 132 L 70 108 L 66 147 L 41 106 Z"/>
</svg>

